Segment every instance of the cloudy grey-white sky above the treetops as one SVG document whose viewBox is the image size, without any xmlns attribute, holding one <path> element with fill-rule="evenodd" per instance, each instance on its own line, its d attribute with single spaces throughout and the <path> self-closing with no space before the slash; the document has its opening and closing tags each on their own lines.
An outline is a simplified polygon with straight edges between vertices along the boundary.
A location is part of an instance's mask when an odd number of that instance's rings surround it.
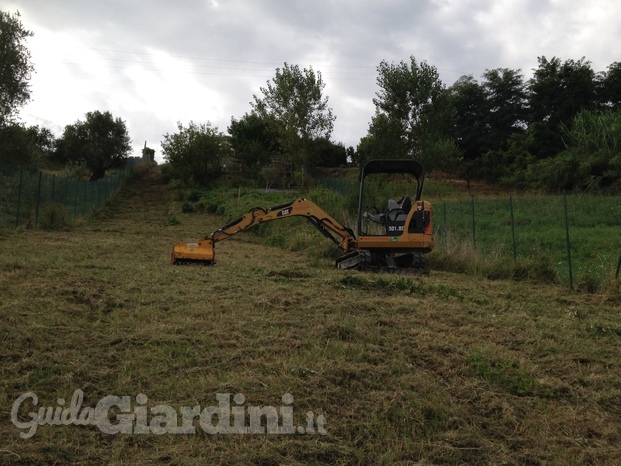
<svg viewBox="0 0 621 466">
<path fill-rule="evenodd" d="M 60 136 L 86 112 L 127 123 L 135 154 L 165 133 L 211 122 L 227 131 L 285 62 L 320 71 L 332 139 L 368 129 L 381 60 L 426 61 L 450 86 L 537 57 L 621 61 L 615 0 L 4 0 L 34 36 L 27 124 Z"/>
</svg>

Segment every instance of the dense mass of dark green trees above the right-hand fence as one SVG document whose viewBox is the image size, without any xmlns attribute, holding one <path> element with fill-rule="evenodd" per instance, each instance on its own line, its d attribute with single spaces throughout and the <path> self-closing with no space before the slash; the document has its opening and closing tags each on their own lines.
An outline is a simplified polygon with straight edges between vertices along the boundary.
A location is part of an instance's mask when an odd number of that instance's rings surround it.
<svg viewBox="0 0 621 466">
<path fill-rule="evenodd" d="M 616 135 L 605 114 L 618 108 L 620 90 L 618 63 L 596 74 L 584 58 L 539 57 L 527 84 L 519 70 L 488 70 L 480 84 L 463 76 L 449 89 L 463 160 L 448 171 L 553 191 L 619 184 Z M 580 116 L 598 109 L 604 115 Z"/>
</svg>

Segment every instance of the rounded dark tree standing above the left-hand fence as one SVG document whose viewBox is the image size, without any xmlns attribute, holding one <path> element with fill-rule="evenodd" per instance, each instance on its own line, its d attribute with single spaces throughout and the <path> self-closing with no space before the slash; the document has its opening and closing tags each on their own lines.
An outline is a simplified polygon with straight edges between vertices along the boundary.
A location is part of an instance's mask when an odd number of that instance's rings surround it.
<svg viewBox="0 0 621 466">
<path fill-rule="evenodd" d="M 125 122 L 110 112 L 88 112 L 84 121 L 65 126 L 58 151 L 65 162 L 83 163 L 97 181 L 120 166 L 131 151 Z"/>
</svg>

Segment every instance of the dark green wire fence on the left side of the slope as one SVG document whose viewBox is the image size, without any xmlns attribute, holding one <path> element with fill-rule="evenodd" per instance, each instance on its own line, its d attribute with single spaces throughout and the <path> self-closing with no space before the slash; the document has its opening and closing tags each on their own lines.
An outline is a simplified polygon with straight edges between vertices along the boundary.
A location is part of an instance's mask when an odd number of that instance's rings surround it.
<svg viewBox="0 0 621 466">
<path fill-rule="evenodd" d="M 84 217 L 101 208 L 140 161 L 130 158 L 98 181 L 0 164 L 0 227 L 37 227 L 54 212 L 73 220 Z"/>
</svg>

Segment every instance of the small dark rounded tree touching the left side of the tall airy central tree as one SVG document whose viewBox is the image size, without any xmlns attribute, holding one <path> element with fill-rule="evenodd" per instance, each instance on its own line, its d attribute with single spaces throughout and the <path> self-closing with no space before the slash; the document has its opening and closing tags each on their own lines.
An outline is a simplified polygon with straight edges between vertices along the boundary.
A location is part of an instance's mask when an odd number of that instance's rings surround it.
<svg viewBox="0 0 621 466">
<path fill-rule="evenodd" d="M 276 124 L 255 112 L 247 113 L 239 120 L 231 118 L 228 132 L 235 156 L 244 168 L 254 174 L 280 153 Z"/>
</svg>

